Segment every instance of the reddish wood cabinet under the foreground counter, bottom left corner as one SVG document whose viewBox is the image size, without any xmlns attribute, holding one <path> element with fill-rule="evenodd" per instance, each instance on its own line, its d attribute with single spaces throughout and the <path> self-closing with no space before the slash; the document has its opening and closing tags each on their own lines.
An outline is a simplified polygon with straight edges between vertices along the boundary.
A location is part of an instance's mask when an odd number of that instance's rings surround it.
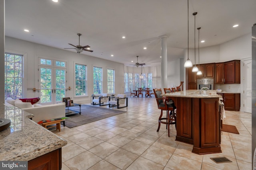
<svg viewBox="0 0 256 170">
<path fill-rule="evenodd" d="M 61 148 L 28 161 L 28 170 L 60 170 Z"/>
</svg>

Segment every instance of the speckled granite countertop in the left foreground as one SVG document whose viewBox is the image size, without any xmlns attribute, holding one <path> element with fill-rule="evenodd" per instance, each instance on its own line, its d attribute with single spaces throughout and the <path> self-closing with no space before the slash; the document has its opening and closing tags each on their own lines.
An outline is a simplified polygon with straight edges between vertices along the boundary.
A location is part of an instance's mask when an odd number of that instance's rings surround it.
<svg viewBox="0 0 256 170">
<path fill-rule="evenodd" d="M 0 131 L 0 160 L 28 161 L 59 149 L 67 141 L 38 125 L 29 118 L 31 113 L 0 103 L 0 118 L 10 119 L 11 125 Z"/>
</svg>

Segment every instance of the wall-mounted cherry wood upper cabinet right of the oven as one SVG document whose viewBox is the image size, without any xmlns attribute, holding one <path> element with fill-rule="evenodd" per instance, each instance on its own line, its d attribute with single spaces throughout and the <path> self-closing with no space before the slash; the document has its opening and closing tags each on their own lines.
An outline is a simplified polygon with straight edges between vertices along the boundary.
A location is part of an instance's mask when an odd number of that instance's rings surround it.
<svg viewBox="0 0 256 170">
<path fill-rule="evenodd" d="M 215 64 L 215 84 L 240 84 L 240 60 Z"/>
</svg>

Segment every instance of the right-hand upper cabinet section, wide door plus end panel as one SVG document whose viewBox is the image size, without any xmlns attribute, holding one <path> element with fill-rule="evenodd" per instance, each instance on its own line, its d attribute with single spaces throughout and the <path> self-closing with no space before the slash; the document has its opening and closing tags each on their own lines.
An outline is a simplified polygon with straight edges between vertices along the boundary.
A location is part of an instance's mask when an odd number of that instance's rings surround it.
<svg viewBox="0 0 256 170">
<path fill-rule="evenodd" d="M 224 63 L 224 83 L 240 83 L 240 61 L 229 61 Z"/>
</svg>

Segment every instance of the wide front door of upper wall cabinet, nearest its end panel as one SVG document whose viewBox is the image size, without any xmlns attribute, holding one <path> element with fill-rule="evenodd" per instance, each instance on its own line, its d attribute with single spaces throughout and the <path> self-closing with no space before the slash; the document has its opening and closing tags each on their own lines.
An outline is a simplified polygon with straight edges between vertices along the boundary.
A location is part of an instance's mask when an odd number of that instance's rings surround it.
<svg viewBox="0 0 256 170">
<path fill-rule="evenodd" d="M 224 83 L 235 83 L 235 61 L 224 64 Z"/>
</svg>

